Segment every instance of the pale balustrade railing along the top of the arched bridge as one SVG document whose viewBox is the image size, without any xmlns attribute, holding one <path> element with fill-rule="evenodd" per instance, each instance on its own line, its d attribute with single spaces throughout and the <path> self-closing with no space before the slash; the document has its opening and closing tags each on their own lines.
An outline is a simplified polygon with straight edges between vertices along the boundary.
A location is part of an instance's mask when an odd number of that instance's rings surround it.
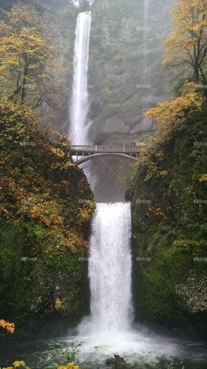
<svg viewBox="0 0 207 369">
<path fill-rule="evenodd" d="M 108 145 L 71 145 L 72 152 L 140 152 L 140 146 L 108 146 Z"/>
</svg>

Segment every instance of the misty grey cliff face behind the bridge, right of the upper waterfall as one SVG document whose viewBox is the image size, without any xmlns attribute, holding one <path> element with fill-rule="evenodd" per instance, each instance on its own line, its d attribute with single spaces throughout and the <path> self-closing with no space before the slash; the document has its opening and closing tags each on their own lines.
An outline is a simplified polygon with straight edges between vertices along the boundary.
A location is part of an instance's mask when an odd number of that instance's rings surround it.
<svg viewBox="0 0 207 369">
<path fill-rule="evenodd" d="M 88 85 L 89 141 L 133 145 L 152 134 L 143 112 L 166 99 L 169 75 L 162 66 L 162 41 L 172 24 L 172 1 L 103 1 L 92 8 Z M 130 164 L 119 159 L 90 164 L 97 201 L 123 201 Z"/>
</svg>

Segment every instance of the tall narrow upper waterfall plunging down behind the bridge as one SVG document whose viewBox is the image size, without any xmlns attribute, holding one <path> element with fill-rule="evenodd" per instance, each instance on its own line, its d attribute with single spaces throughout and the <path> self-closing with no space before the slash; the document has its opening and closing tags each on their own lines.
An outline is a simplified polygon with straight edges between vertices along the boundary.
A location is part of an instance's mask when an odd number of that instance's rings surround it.
<svg viewBox="0 0 207 369">
<path fill-rule="evenodd" d="M 74 141 L 84 145 L 88 128 L 88 50 L 91 28 L 91 12 L 79 13 L 74 46 L 73 99 L 70 109 Z"/>
</svg>

